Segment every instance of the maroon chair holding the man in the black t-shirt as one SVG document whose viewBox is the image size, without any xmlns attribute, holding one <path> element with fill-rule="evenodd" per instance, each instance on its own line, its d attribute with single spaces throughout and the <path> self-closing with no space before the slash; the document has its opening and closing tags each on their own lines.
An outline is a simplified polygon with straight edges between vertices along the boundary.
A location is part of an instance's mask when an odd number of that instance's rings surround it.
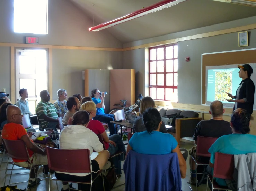
<svg viewBox="0 0 256 191">
<path fill-rule="evenodd" d="M 218 138 L 216 137 L 203 137 L 203 136 L 197 136 L 197 145 L 196 145 L 196 156 L 200 156 L 200 157 L 211 157 L 211 154 L 208 152 L 208 150 L 210 149 L 210 147 L 213 145 L 213 143 L 217 140 Z M 197 191 L 197 185 L 200 185 L 204 179 L 204 176 L 207 175 L 206 172 L 206 167 L 207 165 L 209 165 L 209 163 L 203 164 L 201 162 L 199 162 L 196 158 L 194 158 L 193 156 L 191 156 L 192 159 L 195 161 L 196 163 L 196 191 Z M 197 173 L 197 165 L 205 165 L 204 167 L 204 172 L 203 173 Z M 192 166 L 192 163 L 191 163 Z M 194 173 L 191 172 L 190 175 L 192 175 Z M 197 174 L 203 174 L 203 177 L 201 178 L 201 180 L 197 183 Z M 189 185 L 189 188 L 192 190 L 191 188 L 191 183 Z"/>
</svg>

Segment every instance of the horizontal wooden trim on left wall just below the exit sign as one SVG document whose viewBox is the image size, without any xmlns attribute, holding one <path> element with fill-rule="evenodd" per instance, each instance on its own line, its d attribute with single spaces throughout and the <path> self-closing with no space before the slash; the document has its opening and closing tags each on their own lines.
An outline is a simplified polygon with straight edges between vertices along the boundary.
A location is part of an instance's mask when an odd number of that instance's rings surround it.
<svg viewBox="0 0 256 191">
<path fill-rule="evenodd" d="M 2 47 L 28 47 L 28 48 L 52 48 L 52 49 L 73 49 L 73 50 L 101 50 L 101 51 L 123 51 L 122 48 L 100 48 L 100 47 L 76 47 L 76 46 L 58 46 L 58 45 L 45 45 L 45 44 L 18 44 L 18 43 L 3 43 L 0 42 Z"/>
</svg>

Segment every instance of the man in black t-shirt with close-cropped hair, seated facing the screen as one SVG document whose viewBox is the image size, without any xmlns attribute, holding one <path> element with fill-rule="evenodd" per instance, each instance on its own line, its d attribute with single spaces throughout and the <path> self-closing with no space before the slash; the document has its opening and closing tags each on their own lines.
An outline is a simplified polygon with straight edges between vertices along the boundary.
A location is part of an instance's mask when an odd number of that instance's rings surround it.
<svg viewBox="0 0 256 191">
<path fill-rule="evenodd" d="M 232 134 L 232 130 L 230 128 L 230 123 L 223 120 L 223 113 L 225 109 L 223 109 L 223 104 L 220 101 L 213 101 L 210 105 L 209 113 L 212 115 L 212 119 L 203 120 L 198 123 L 195 129 L 195 134 L 193 139 L 195 140 L 195 144 L 197 141 L 197 136 L 203 137 L 221 137 L 223 135 Z M 196 157 L 196 146 L 192 147 L 189 150 L 189 155 L 197 158 L 197 160 L 203 164 L 208 164 L 210 158 L 209 157 Z M 196 185 L 196 164 L 195 161 L 190 158 L 190 163 L 192 164 L 191 172 L 191 184 Z"/>
</svg>

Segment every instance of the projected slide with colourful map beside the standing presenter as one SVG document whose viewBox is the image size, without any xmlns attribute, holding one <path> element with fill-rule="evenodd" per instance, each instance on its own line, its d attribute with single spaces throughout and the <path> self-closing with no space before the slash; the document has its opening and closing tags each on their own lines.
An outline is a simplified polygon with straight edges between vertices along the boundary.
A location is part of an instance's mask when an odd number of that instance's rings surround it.
<svg viewBox="0 0 256 191">
<path fill-rule="evenodd" d="M 236 95 L 241 78 L 238 76 L 239 68 L 208 69 L 207 70 L 207 101 L 219 100 L 229 103 L 231 99 L 226 92 Z"/>
</svg>

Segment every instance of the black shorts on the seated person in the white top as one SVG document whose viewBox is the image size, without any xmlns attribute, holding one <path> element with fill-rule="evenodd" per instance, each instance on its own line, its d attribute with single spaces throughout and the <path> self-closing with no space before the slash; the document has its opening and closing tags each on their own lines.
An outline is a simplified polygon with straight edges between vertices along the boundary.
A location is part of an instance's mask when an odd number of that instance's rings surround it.
<svg viewBox="0 0 256 191">
<path fill-rule="evenodd" d="M 92 179 L 94 179 L 100 169 L 99 169 L 99 164 L 96 160 L 92 160 L 91 161 L 91 166 L 92 166 Z M 69 182 L 69 181 L 72 181 L 72 182 L 88 182 L 88 181 L 91 181 L 91 175 L 87 175 L 87 176 L 83 176 L 83 177 L 80 177 L 80 176 L 76 176 L 76 175 L 70 175 L 70 174 L 65 174 L 65 173 L 58 173 L 58 172 L 55 172 L 55 176 L 57 179 L 59 180 L 62 180 L 62 181 L 66 181 L 66 182 Z"/>
</svg>

